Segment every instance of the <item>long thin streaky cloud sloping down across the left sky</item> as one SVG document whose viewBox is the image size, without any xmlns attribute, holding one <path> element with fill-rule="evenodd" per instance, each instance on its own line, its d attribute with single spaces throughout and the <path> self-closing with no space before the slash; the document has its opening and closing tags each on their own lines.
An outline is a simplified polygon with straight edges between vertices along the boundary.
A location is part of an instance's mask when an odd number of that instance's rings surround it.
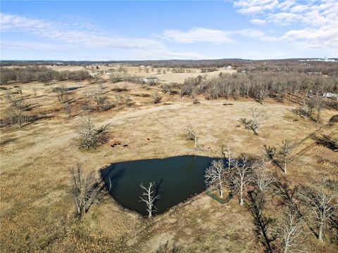
<svg viewBox="0 0 338 253">
<path fill-rule="evenodd" d="M 19 15 L 0 13 L 2 32 L 25 32 L 35 34 L 51 40 L 53 43 L 39 43 L 28 41 L 1 41 L 1 48 L 20 51 L 71 51 L 73 48 L 106 48 L 111 53 L 112 48 L 131 49 L 135 58 L 175 58 L 175 59 L 201 59 L 194 52 L 173 52 L 159 41 L 147 38 L 112 37 L 105 32 L 98 32 L 89 22 L 82 22 L 76 17 L 71 23 L 48 22 L 36 18 L 26 18 Z M 63 43 L 60 43 L 63 42 Z M 88 58 L 90 56 L 83 56 Z M 135 59 L 133 58 L 133 59 Z M 94 59 L 94 58 L 92 58 Z M 98 60 L 97 58 L 95 58 Z M 106 58 L 106 60 L 111 60 Z"/>
</svg>

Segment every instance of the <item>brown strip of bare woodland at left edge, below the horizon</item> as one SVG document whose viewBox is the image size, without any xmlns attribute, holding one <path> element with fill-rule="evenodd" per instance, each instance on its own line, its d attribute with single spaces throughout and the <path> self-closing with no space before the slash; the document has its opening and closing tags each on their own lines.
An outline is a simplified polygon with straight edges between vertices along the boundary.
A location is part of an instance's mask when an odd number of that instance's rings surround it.
<svg viewBox="0 0 338 253">
<path fill-rule="evenodd" d="M 0 68 L 1 84 L 6 84 L 8 82 L 33 82 L 39 81 L 47 84 L 52 79 L 57 79 L 58 81 L 72 80 L 72 81 L 82 81 L 90 77 L 87 70 L 62 70 L 60 72 L 51 70 L 48 67 L 1 67 Z"/>
</svg>

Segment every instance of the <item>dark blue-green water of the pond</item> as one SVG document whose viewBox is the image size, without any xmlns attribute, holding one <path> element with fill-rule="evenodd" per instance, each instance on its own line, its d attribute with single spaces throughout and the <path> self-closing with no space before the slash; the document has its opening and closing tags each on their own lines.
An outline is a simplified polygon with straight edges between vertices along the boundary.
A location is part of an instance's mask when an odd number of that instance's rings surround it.
<svg viewBox="0 0 338 253">
<path fill-rule="evenodd" d="M 155 207 L 161 214 L 196 193 L 205 190 L 204 171 L 215 158 L 184 155 L 165 159 L 119 162 L 101 171 L 106 186 L 111 179 L 110 193 L 123 207 L 148 214 L 146 204 L 139 202 L 141 183 L 148 186 L 156 181 L 154 192 L 160 195 Z"/>
</svg>

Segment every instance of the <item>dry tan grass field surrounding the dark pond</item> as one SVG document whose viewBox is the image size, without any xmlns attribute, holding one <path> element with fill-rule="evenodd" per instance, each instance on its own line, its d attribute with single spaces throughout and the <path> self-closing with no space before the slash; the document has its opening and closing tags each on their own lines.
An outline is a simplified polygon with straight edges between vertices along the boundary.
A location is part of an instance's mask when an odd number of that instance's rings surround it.
<svg viewBox="0 0 338 253">
<path fill-rule="evenodd" d="M 137 71 L 135 68 L 135 74 L 141 74 Z M 208 73 L 207 78 L 220 71 Z M 132 73 L 132 69 L 128 72 Z M 156 74 L 154 70 L 143 76 L 182 83 L 198 74 L 201 73 Z M 193 104 L 191 98 L 164 94 L 158 86 L 144 89 L 140 84 L 128 82 L 111 84 L 107 76 L 104 78 L 107 79 L 104 93 L 111 103 L 117 96 L 123 96 L 130 97 L 134 105 L 118 105 L 92 113 L 97 125 L 113 126 L 108 143 L 90 151 L 79 150 L 74 141 L 82 117 L 77 103 L 99 87 L 97 82 L 53 82 L 52 86 L 65 84 L 68 88 L 78 88 L 68 95 L 74 108 L 70 118 L 50 86 L 40 82 L 6 85 L 13 91 L 18 89 L 14 86 L 21 86 L 25 103 L 32 108 L 30 113 L 54 117 L 39 119 L 20 129 L 16 125 L 0 129 L 1 252 L 175 252 L 166 248 L 177 252 L 263 252 L 246 207 L 240 207 L 237 199 L 230 205 L 220 205 L 205 193 L 151 220 L 119 207 L 107 195 L 79 219 L 70 194 L 70 169 L 77 163 L 82 164 L 84 171 L 98 171 L 106 164 L 127 160 L 187 154 L 219 157 L 220 147 L 226 141 L 234 147 L 236 155 L 258 157 L 263 145 L 278 145 L 287 136 L 299 142 L 289 164 L 290 183 L 308 183 L 322 174 L 338 178 L 337 153 L 317 145 L 311 138 L 313 133 L 338 131 L 337 124 L 328 124 L 337 115 L 335 110 L 323 110 L 321 123 L 317 124 L 295 115 L 292 109 L 298 105 L 288 99 L 284 103 L 268 99 L 261 105 L 251 99 L 205 100 L 201 96 L 201 103 Z M 127 91 L 113 91 L 116 87 Z M 151 94 L 156 90 L 161 93 L 162 101 L 154 104 Z M 1 90 L 1 115 L 6 115 L 7 106 L 5 91 Z M 249 117 L 252 108 L 265 112 L 265 123 L 258 136 L 239 122 Z M 189 125 L 206 152 L 186 140 L 184 135 Z M 111 143 L 116 141 L 127 146 L 112 148 Z M 277 167 L 269 169 L 280 176 L 283 174 Z M 338 251 L 337 245 L 318 244 L 315 235 L 310 231 L 308 234 L 310 252 Z"/>
</svg>

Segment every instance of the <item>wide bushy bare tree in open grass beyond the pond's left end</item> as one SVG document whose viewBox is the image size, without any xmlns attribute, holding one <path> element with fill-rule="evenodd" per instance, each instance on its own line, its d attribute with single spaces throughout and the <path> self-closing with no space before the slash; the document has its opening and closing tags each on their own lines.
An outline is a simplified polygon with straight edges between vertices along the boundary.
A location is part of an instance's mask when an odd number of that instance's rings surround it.
<svg viewBox="0 0 338 253">
<path fill-rule="evenodd" d="M 84 117 L 82 124 L 79 128 L 79 137 L 77 138 L 77 145 L 79 148 L 96 148 L 97 146 L 105 143 L 108 139 L 108 129 L 111 124 L 95 127 L 92 118 Z"/>
</svg>

